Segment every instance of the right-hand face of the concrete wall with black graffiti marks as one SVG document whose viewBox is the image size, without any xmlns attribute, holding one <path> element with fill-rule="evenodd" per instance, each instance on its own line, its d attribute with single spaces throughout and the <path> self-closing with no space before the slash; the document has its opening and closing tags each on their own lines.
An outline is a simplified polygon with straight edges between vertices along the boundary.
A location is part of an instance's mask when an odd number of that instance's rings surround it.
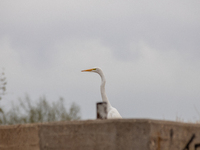
<svg viewBox="0 0 200 150">
<path fill-rule="evenodd" d="M 200 124 L 150 121 L 150 150 L 200 150 Z"/>
</svg>

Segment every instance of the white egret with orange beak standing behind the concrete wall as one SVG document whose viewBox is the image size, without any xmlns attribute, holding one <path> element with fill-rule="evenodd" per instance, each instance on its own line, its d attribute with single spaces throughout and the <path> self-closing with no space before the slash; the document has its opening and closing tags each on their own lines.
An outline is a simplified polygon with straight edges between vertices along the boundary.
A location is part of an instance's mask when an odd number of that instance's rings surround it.
<svg viewBox="0 0 200 150">
<path fill-rule="evenodd" d="M 98 73 L 100 75 L 100 77 L 101 77 L 100 89 L 101 89 L 102 101 L 103 102 L 107 102 L 107 106 L 108 106 L 107 118 L 108 119 L 119 119 L 119 118 L 122 118 L 121 115 L 119 114 L 119 112 L 117 111 L 117 109 L 112 107 L 110 102 L 108 101 L 108 98 L 107 98 L 106 92 L 105 92 L 106 79 L 105 79 L 105 76 L 103 74 L 103 71 L 100 68 L 92 68 L 92 69 L 82 70 L 82 72 L 95 72 L 95 73 Z"/>
</svg>

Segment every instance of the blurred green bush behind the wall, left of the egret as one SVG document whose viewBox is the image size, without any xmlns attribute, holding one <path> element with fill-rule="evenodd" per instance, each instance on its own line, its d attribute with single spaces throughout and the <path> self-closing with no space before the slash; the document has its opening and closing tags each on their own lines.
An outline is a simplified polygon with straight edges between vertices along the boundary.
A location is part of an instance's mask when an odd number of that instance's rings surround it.
<svg viewBox="0 0 200 150">
<path fill-rule="evenodd" d="M 80 107 L 73 103 L 67 111 L 63 98 L 50 104 L 45 97 L 42 97 L 34 105 L 26 96 L 25 100 L 19 99 L 17 106 L 12 104 L 12 108 L 8 112 L 0 112 L 0 124 L 4 125 L 79 119 Z"/>
</svg>

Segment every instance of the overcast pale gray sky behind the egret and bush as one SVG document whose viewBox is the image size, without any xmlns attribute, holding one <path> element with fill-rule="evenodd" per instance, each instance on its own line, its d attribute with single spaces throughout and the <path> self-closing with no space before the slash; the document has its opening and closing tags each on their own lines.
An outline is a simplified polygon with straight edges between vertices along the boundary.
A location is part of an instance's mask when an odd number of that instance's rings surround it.
<svg viewBox="0 0 200 150">
<path fill-rule="evenodd" d="M 200 120 L 200 1 L 0 2 L 2 105 L 64 97 L 94 119 L 101 80 L 81 70 L 95 66 L 123 118 Z"/>
</svg>

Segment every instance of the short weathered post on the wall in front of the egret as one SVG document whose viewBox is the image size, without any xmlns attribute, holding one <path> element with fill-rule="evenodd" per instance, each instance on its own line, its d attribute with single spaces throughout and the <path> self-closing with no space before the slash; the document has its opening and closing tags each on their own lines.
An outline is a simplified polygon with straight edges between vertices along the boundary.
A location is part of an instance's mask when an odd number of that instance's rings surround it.
<svg viewBox="0 0 200 150">
<path fill-rule="evenodd" d="M 98 102 L 97 103 L 97 119 L 107 119 L 107 103 Z"/>
</svg>

